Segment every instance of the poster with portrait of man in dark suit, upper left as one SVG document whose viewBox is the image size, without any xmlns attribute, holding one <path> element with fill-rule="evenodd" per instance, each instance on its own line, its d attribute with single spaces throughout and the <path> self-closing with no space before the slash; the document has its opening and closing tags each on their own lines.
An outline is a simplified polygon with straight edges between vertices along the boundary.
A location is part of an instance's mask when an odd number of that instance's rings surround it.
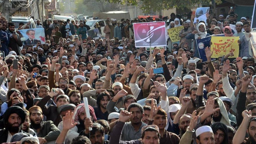
<svg viewBox="0 0 256 144">
<path fill-rule="evenodd" d="M 37 45 L 38 42 L 45 44 L 44 28 L 21 29 L 19 32 L 26 38 L 23 45 Z"/>
</svg>

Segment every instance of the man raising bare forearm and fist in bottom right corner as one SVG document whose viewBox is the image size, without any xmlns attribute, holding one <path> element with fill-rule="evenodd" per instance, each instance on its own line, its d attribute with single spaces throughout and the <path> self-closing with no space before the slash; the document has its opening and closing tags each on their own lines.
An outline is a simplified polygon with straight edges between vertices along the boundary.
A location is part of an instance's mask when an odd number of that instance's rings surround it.
<svg viewBox="0 0 256 144">
<path fill-rule="evenodd" d="M 243 121 L 239 126 L 236 134 L 233 138 L 233 144 L 249 144 L 256 143 L 255 127 L 256 127 L 256 117 L 252 116 L 251 110 L 244 110 L 242 112 Z M 249 134 L 249 137 L 246 138 L 246 134 Z"/>
</svg>

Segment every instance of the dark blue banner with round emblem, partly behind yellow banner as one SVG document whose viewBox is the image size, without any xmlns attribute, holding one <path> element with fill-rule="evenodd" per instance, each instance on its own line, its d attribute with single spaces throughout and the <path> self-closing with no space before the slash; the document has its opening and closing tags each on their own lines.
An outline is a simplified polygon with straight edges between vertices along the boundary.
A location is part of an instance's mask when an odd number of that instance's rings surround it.
<svg viewBox="0 0 256 144">
<path fill-rule="evenodd" d="M 213 36 L 225 36 L 224 34 L 218 34 L 218 35 L 213 35 Z M 205 48 L 208 46 L 210 47 L 210 42 L 211 42 L 211 37 L 212 36 L 207 36 L 202 39 L 196 39 L 196 44 L 199 52 L 200 59 L 202 61 L 207 61 L 206 55 L 205 55 Z"/>
</svg>

